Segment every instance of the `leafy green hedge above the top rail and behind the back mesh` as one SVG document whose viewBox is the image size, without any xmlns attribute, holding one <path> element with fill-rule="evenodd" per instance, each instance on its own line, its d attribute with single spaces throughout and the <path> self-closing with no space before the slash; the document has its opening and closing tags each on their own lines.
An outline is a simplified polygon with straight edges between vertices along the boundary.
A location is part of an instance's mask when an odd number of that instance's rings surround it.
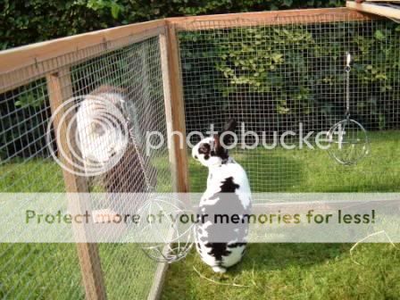
<svg viewBox="0 0 400 300">
<path fill-rule="evenodd" d="M 314 0 L 4 0 L 0 4 L 0 49 L 168 16 L 343 4 L 344 1 Z M 222 122 L 228 105 L 240 108 L 241 113 L 263 112 L 276 116 L 267 124 L 271 130 L 284 129 L 282 124 L 294 124 L 299 113 L 328 124 L 332 116 L 343 114 L 344 106 L 340 104 L 344 101 L 343 55 L 350 50 L 354 55 L 352 112 L 367 129 L 394 129 L 400 122 L 399 113 L 395 113 L 400 98 L 396 88 L 400 27 L 377 26 L 363 35 L 349 30 L 346 24 L 336 26 L 334 30 L 274 26 L 182 33 L 179 38 L 183 78 L 197 87 L 185 89 L 186 97 L 195 99 L 197 105 L 207 101 L 208 109 L 215 112 L 212 118 L 221 118 L 208 120 L 210 114 L 204 114 L 201 118 L 204 124 Z M 340 26 L 343 27 L 340 29 Z M 371 91 L 371 94 L 364 96 L 362 91 Z M 254 104 L 246 101 L 246 97 L 262 101 Z M 10 116 L 15 126 L 7 134 L 13 131 L 18 134 L 22 129 L 16 125 L 21 118 L 29 118 L 34 110 L 43 110 L 43 99 L 43 96 L 27 94 L 12 98 L 12 104 L 4 103 L 0 107 L 2 113 L 8 105 L 21 114 Z M 190 117 L 187 119 L 190 122 Z M 196 120 L 193 123 L 198 129 Z M 29 126 L 41 129 L 35 124 Z M 3 135 L 3 143 L 10 138 Z M 39 140 L 37 147 L 40 146 Z"/>
</svg>

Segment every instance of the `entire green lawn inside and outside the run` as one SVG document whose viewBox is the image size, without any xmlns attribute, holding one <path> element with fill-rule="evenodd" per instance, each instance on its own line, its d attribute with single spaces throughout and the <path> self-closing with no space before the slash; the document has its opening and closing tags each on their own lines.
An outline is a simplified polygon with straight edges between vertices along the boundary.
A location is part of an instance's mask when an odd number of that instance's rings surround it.
<svg viewBox="0 0 400 300">
<path fill-rule="evenodd" d="M 370 137 L 370 156 L 351 167 L 321 150 L 255 149 L 233 155 L 246 168 L 254 192 L 399 191 L 400 134 L 385 131 Z M 165 163 L 157 164 L 165 174 Z M 192 191 L 202 192 L 206 170 L 191 159 L 189 167 Z M 0 167 L 0 174 L 3 192 L 63 191 L 62 172 L 54 162 L 12 161 Z M 159 184 L 162 191 L 168 189 Z M 186 260 L 171 264 L 162 299 L 400 298 L 398 249 L 363 244 L 352 260 L 351 246 L 252 244 L 243 262 L 224 275 L 213 274 L 192 251 Z M 101 245 L 100 254 L 109 297 L 144 299 L 156 265 L 139 246 Z M 193 267 L 215 282 L 201 278 Z M 0 298 L 83 298 L 80 282 L 74 245 L 0 245 Z"/>
</svg>

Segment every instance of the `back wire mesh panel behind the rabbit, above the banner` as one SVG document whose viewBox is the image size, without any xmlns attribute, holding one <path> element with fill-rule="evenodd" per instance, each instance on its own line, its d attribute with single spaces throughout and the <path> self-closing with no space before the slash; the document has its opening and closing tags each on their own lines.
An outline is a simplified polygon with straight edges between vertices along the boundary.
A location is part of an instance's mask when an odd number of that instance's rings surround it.
<svg viewBox="0 0 400 300">
<path fill-rule="evenodd" d="M 399 29 L 353 12 L 179 24 L 187 132 L 205 132 L 211 123 L 218 130 L 229 118 L 243 122 L 232 154 L 253 191 L 396 191 Z M 353 165 L 338 163 L 315 141 L 346 118 L 346 53 L 351 118 L 367 129 L 371 144 Z M 260 139 L 253 148 L 256 137 L 243 134 L 249 130 Z M 310 146 L 300 144 L 301 132 L 313 132 Z M 203 191 L 205 178 L 191 162 L 191 190 Z"/>
</svg>

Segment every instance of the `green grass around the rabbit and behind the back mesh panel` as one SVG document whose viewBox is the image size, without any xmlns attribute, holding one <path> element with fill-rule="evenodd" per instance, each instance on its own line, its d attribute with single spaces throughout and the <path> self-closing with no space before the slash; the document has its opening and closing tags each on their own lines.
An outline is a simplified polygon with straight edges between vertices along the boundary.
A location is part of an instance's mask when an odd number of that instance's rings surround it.
<svg viewBox="0 0 400 300">
<path fill-rule="evenodd" d="M 400 191 L 400 134 L 370 137 L 371 154 L 353 166 L 340 165 L 321 150 L 257 148 L 233 156 L 245 167 L 254 192 Z M 191 190 L 204 191 L 206 170 L 193 160 L 189 166 Z M 171 264 L 162 299 L 399 299 L 400 246 L 359 245 L 353 258 L 360 264 L 351 258 L 351 246 L 250 244 L 243 261 L 223 275 L 192 250 L 186 260 Z M 218 283 L 201 278 L 194 267 Z"/>
</svg>

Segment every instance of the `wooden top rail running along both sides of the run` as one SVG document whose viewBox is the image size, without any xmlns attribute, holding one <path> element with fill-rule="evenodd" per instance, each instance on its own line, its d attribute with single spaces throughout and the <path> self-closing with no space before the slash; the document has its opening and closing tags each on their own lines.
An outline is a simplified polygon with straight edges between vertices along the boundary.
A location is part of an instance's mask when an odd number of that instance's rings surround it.
<svg viewBox="0 0 400 300">
<path fill-rule="evenodd" d="M 348 4 L 350 4 L 350 2 L 348 2 Z M 349 12 L 351 12 L 350 15 Z M 121 45 L 121 41 L 119 42 L 123 37 L 134 37 L 135 40 L 139 41 L 162 33 L 167 27 L 176 31 L 183 30 L 186 28 L 187 24 L 195 24 L 196 21 L 225 21 L 225 26 L 229 26 L 229 22 L 233 26 L 233 24 L 237 24 L 237 22 L 240 21 L 244 23 L 251 22 L 252 24 L 279 24 L 296 21 L 296 18 L 299 18 L 299 21 L 307 21 L 306 19 L 303 19 L 307 16 L 321 16 L 320 21 L 324 21 L 324 16 L 327 16 L 326 21 L 332 21 L 332 16 L 335 17 L 335 21 L 346 21 L 349 18 L 351 18 L 351 20 L 360 21 L 376 18 L 371 14 L 354 12 L 346 8 L 288 10 L 278 12 L 244 12 L 167 18 L 164 20 L 147 21 L 112 29 L 103 29 L 71 37 L 57 38 L 42 43 L 2 51 L 0 52 L 0 74 L 17 71 L 23 67 L 28 67 L 29 65 L 37 65 L 37 63 L 50 61 L 61 57 L 64 54 L 76 54 L 79 53 L 80 50 L 87 49 L 91 46 L 103 45 L 104 47 L 110 48 L 123 46 Z M 196 29 L 196 25 L 190 29 Z M 199 29 L 204 29 L 204 27 Z M 212 29 L 212 23 L 210 23 L 210 29 Z M 82 60 L 84 58 L 85 57 L 83 56 L 74 56 L 73 58 L 70 58 L 70 60 L 67 59 L 64 63 L 76 63 L 77 60 Z M 46 70 L 39 71 L 43 72 Z M 0 81 L 0 83 L 3 82 Z M 0 90 L 2 90 L 2 87 L 3 86 L 0 86 Z"/>
</svg>

